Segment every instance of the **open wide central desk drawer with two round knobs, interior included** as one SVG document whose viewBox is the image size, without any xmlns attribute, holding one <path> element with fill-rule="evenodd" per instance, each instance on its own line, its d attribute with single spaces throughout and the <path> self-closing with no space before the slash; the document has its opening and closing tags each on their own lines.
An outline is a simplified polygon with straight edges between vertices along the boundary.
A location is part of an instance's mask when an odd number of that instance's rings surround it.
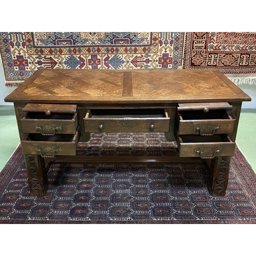
<svg viewBox="0 0 256 256">
<path fill-rule="evenodd" d="M 168 132 L 167 110 L 89 109 L 84 118 L 85 132 Z"/>
</svg>

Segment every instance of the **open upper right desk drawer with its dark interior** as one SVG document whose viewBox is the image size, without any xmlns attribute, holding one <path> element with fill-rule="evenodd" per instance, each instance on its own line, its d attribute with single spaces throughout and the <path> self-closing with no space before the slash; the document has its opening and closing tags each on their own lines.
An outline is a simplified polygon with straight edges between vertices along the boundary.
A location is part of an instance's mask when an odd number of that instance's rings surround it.
<svg viewBox="0 0 256 256">
<path fill-rule="evenodd" d="M 213 134 L 232 133 L 235 119 L 228 115 L 224 109 L 203 111 L 178 111 L 176 123 L 178 132 L 182 134 L 198 134 L 212 136 Z"/>
</svg>

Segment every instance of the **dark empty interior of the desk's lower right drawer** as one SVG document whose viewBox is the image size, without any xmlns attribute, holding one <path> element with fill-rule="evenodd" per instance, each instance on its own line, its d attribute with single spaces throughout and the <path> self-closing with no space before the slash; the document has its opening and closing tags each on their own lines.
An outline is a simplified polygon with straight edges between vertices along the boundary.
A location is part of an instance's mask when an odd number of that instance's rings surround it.
<svg viewBox="0 0 256 256">
<path fill-rule="evenodd" d="M 180 138 L 181 143 L 232 142 L 225 134 L 215 134 L 213 136 L 180 135 Z"/>
</svg>

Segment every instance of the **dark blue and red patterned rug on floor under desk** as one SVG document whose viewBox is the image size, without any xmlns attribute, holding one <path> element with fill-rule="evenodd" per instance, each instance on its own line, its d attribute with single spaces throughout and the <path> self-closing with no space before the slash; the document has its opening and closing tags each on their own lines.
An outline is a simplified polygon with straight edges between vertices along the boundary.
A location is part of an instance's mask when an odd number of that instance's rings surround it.
<svg viewBox="0 0 256 256">
<path fill-rule="evenodd" d="M 92 133 L 80 156 L 177 156 L 164 133 Z M 0 223 L 256 223 L 256 175 L 236 148 L 226 196 L 204 164 L 52 164 L 30 196 L 19 146 L 0 173 Z"/>
</svg>

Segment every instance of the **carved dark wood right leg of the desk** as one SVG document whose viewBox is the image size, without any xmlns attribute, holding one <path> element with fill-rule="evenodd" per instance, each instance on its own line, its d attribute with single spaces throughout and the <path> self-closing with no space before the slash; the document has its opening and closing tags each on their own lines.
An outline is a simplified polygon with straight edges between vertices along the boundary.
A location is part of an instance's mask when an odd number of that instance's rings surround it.
<svg viewBox="0 0 256 256">
<path fill-rule="evenodd" d="M 232 109 L 228 110 L 228 114 L 236 119 L 234 130 L 229 137 L 234 142 L 236 140 L 237 126 L 241 111 L 242 102 L 229 102 L 233 106 Z M 225 196 L 226 189 L 228 187 L 228 172 L 231 162 L 231 156 L 217 156 L 212 159 L 210 170 L 208 189 L 212 196 Z"/>
</svg>

